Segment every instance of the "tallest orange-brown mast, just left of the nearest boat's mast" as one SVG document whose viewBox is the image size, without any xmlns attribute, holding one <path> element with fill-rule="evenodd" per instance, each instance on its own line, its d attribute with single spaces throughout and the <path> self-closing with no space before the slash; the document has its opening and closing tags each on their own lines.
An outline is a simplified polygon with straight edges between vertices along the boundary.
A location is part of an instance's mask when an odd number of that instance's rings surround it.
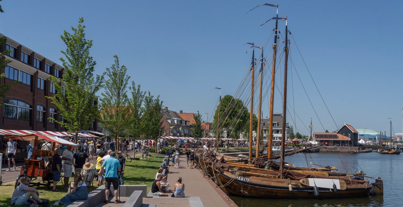
<svg viewBox="0 0 403 207">
<path fill-rule="evenodd" d="M 278 4 L 277 4 L 276 18 L 278 18 Z M 270 109 L 269 109 L 269 140 L 268 140 L 268 149 L 267 149 L 268 159 L 272 158 L 272 145 L 273 145 L 273 143 L 272 143 L 273 142 L 273 105 L 274 105 L 274 77 L 276 75 L 277 22 L 278 22 L 278 19 L 276 19 L 276 27 L 274 27 L 272 87 L 270 90 Z"/>
</svg>

